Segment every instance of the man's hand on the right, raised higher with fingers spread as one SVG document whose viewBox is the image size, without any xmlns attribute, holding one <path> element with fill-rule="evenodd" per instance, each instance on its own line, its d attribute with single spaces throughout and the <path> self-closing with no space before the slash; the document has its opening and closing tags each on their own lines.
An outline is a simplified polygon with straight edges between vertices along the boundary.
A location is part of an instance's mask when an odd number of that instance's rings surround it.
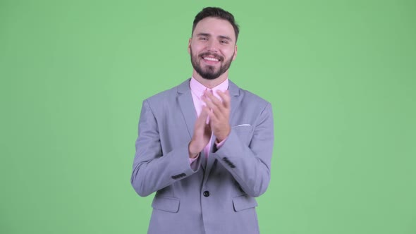
<svg viewBox="0 0 416 234">
<path fill-rule="evenodd" d="M 230 92 L 216 91 L 222 101 L 214 96 L 211 92 L 205 91 L 202 100 L 207 104 L 209 109 L 209 125 L 218 142 L 223 141 L 231 132 L 230 110 L 231 98 Z"/>
</svg>

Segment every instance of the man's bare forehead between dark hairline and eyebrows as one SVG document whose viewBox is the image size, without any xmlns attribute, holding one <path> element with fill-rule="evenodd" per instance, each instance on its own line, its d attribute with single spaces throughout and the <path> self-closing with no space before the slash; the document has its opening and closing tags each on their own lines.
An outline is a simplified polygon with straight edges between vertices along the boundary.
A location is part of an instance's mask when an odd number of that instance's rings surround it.
<svg viewBox="0 0 416 234">
<path fill-rule="evenodd" d="M 208 33 L 213 37 L 226 36 L 235 41 L 233 25 L 227 20 L 219 18 L 207 17 L 200 20 L 200 22 L 197 23 L 192 36 L 197 35 L 198 33 Z"/>
</svg>

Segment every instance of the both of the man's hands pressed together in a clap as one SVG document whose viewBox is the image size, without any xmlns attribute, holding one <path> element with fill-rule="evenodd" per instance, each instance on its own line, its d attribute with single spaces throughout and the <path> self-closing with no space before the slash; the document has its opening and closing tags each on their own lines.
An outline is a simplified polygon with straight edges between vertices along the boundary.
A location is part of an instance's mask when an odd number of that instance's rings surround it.
<svg viewBox="0 0 416 234">
<path fill-rule="evenodd" d="M 202 101 L 207 106 L 202 107 L 200 116 L 195 122 L 192 140 L 189 143 L 189 156 L 195 158 L 208 144 L 211 135 L 214 134 L 217 142 L 221 142 L 230 134 L 230 109 L 231 98 L 228 90 L 226 92 L 216 91 L 222 101 L 211 92 L 205 91 Z M 209 121 L 207 121 L 209 117 Z"/>
</svg>

